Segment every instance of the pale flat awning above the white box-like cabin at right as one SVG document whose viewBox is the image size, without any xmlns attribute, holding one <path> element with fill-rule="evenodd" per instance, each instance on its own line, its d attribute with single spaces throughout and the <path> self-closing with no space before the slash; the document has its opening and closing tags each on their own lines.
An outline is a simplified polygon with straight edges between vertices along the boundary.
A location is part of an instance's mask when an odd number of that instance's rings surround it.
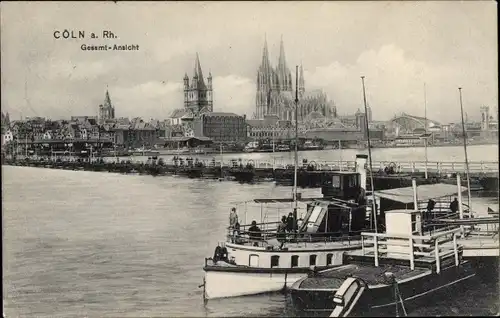
<svg viewBox="0 0 500 318">
<path fill-rule="evenodd" d="M 460 188 L 462 192 L 467 190 L 466 187 Z M 456 194 L 458 194 L 458 188 L 452 184 L 436 183 L 417 186 L 418 201 L 428 201 Z M 375 196 L 405 204 L 413 203 L 413 187 L 375 191 Z"/>
</svg>

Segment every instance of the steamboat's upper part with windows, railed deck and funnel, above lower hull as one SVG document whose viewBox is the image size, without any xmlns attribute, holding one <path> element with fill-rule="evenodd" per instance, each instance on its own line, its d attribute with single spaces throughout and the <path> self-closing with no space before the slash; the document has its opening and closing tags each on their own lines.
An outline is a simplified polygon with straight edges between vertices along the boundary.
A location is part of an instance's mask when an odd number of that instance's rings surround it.
<svg viewBox="0 0 500 318">
<path fill-rule="evenodd" d="M 362 170 L 366 156 L 358 157 L 357 166 Z M 363 182 L 366 178 L 362 176 L 363 171 L 337 171 L 332 177 L 335 187 L 330 195 L 323 198 L 297 195 L 297 201 L 302 207 L 305 205 L 303 218 L 298 217 L 291 198 L 252 200 L 250 203 L 261 206 L 260 222 L 255 222 L 258 234 L 250 230 L 252 224 L 249 224 L 251 222 L 248 222 L 245 210 L 245 224 L 238 229 L 228 228 L 227 240 L 222 244 L 227 249 L 230 263 L 261 268 L 303 269 L 341 264 L 344 251 L 361 248 L 361 231 L 371 231 L 366 220 L 366 182 Z M 263 212 L 264 205 L 269 207 L 273 204 L 289 205 L 285 209 L 278 208 L 277 212 Z M 290 213 L 294 224 L 292 229 L 278 232 L 281 217 Z M 266 222 L 269 215 L 275 215 L 276 221 Z"/>
</svg>

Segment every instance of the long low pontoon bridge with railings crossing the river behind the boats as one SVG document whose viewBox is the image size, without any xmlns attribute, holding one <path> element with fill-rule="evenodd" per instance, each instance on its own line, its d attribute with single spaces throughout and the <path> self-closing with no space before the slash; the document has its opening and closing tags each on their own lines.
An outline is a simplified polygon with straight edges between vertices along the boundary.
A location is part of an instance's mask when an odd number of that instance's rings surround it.
<svg viewBox="0 0 500 318">
<path fill-rule="evenodd" d="M 65 170 L 114 172 L 123 174 L 147 174 L 152 176 L 180 175 L 189 178 L 211 178 L 239 182 L 275 181 L 280 185 L 293 185 L 294 166 L 284 160 L 260 161 L 232 159 L 227 161 L 201 160 L 192 157 L 174 157 L 170 162 L 156 156 L 145 161 L 123 160 L 117 157 L 78 158 L 68 157 L 10 157 L 2 158 L 2 164 L 31 166 Z M 355 161 L 307 161 L 298 169 L 297 185 L 322 187 L 332 182 L 338 172 L 355 171 Z M 419 183 L 456 183 L 456 175 L 465 172 L 460 162 L 373 162 L 373 179 L 376 189 L 411 185 L 411 179 Z M 367 167 L 368 168 L 368 167 Z M 498 162 L 470 162 L 472 190 L 498 191 Z M 466 181 L 462 180 L 463 185 Z M 368 183 L 370 184 L 370 183 Z"/>
</svg>

